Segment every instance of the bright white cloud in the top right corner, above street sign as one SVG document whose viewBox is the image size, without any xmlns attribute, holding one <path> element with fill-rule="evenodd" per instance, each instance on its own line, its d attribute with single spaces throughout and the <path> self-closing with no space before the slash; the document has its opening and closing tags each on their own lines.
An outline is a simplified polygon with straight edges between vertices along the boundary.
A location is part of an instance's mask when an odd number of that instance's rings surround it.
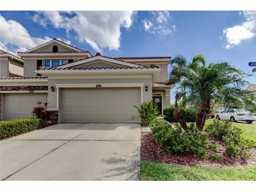
<svg viewBox="0 0 256 192">
<path fill-rule="evenodd" d="M 223 30 L 227 44 L 225 48 L 229 49 L 239 45 L 243 40 L 251 39 L 256 32 L 256 11 L 243 11 L 239 13 L 245 18 L 241 25 L 235 25 Z"/>
</svg>

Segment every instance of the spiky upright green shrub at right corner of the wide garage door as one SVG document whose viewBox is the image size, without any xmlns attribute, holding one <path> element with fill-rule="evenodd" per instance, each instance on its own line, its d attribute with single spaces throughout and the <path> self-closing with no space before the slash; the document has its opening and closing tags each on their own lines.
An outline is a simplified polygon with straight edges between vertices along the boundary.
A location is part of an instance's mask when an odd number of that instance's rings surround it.
<svg viewBox="0 0 256 192">
<path fill-rule="evenodd" d="M 143 102 L 138 107 L 135 106 L 135 108 L 140 114 L 140 119 L 143 125 L 150 125 L 151 123 L 154 123 L 154 121 L 156 121 L 157 114 L 159 114 L 157 104 L 153 100 Z"/>
</svg>

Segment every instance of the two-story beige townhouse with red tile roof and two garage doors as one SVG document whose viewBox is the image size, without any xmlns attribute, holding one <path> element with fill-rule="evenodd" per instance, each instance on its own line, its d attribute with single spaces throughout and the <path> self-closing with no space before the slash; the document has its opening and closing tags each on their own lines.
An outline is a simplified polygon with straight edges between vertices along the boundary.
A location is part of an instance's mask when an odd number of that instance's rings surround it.
<svg viewBox="0 0 256 192">
<path fill-rule="evenodd" d="M 170 105 L 170 57 L 92 56 L 56 39 L 18 55 L 24 77 L 0 77 L 1 120 L 31 117 L 36 101 L 59 123 L 138 123 L 135 105 Z"/>
</svg>

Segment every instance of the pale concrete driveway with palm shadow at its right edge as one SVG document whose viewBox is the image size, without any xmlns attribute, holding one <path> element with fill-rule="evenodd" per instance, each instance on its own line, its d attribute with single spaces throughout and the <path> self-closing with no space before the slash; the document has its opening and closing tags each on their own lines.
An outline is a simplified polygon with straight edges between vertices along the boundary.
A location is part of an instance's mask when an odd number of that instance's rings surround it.
<svg viewBox="0 0 256 192">
<path fill-rule="evenodd" d="M 0 142 L 1 180 L 136 180 L 140 125 L 58 124 Z"/>
</svg>

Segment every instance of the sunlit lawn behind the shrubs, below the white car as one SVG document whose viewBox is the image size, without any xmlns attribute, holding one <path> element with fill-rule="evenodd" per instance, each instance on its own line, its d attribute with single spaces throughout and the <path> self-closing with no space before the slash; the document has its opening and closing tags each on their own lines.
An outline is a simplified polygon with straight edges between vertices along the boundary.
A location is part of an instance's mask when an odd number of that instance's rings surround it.
<svg viewBox="0 0 256 192">
<path fill-rule="evenodd" d="M 207 120 L 206 121 L 206 125 L 209 123 L 212 123 L 213 120 Z M 256 142 L 256 124 L 252 123 L 252 124 L 248 124 L 248 123 L 243 123 L 243 122 L 239 122 L 239 123 L 233 123 L 236 127 L 241 128 L 242 130 L 244 130 L 243 132 L 243 137 L 245 137 L 246 139 L 252 139 L 253 141 Z"/>
</svg>

